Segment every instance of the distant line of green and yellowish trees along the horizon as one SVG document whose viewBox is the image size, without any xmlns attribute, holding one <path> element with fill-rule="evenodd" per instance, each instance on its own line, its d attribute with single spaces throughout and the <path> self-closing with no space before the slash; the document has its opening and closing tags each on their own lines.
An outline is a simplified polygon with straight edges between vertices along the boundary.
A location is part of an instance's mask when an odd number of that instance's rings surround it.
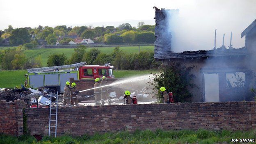
<svg viewBox="0 0 256 144">
<path fill-rule="evenodd" d="M 49 45 L 59 42 L 68 45 L 72 38 L 92 39 L 95 43 L 153 43 L 155 25 L 145 25 L 139 22 L 136 27 L 129 23 L 114 26 L 75 26 L 67 27 L 58 25 L 56 27 L 41 26 L 13 28 L 11 25 L 5 30 L 0 30 L 0 45 L 23 45 L 28 43 L 28 48 L 34 48 L 41 41 L 47 41 Z M 72 37 L 72 38 L 71 38 Z"/>
</svg>

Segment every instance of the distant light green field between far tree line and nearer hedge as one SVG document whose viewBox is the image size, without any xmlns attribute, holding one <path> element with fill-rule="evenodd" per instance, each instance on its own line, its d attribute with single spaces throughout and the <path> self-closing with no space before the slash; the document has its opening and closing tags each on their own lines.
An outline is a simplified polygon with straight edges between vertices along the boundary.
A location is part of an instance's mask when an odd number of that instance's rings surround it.
<svg viewBox="0 0 256 144">
<path fill-rule="evenodd" d="M 102 53 L 110 54 L 114 50 L 115 47 L 98 47 Z M 87 48 L 88 51 L 91 48 Z M 137 46 L 122 46 L 120 50 L 123 50 L 125 53 L 138 53 L 139 48 Z M 140 51 L 154 51 L 154 46 L 140 46 Z M 42 49 L 34 49 L 34 50 L 25 50 L 24 53 L 27 58 L 34 58 L 39 55 L 42 57 L 42 64 L 46 66 L 46 62 L 50 53 L 65 53 L 67 57 L 71 57 L 74 52 L 74 48 L 42 48 Z"/>
</svg>

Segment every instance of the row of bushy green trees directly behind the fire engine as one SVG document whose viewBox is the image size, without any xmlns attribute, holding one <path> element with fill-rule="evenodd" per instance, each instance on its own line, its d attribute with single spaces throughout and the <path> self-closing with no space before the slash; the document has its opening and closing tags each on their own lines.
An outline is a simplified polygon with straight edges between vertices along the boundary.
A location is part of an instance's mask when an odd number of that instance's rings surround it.
<svg viewBox="0 0 256 144">
<path fill-rule="evenodd" d="M 146 70 L 157 69 L 160 62 L 154 60 L 153 52 L 124 53 L 119 47 L 114 48 L 110 55 L 101 53 L 97 48 L 87 50 L 85 46 L 75 48 L 75 52 L 68 59 L 66 55 L 52 53 L 48 56 L 48 66 L 75 64 L 87 62 L 88 65 L 111 63 L 117 70 Z"/>
</svg>

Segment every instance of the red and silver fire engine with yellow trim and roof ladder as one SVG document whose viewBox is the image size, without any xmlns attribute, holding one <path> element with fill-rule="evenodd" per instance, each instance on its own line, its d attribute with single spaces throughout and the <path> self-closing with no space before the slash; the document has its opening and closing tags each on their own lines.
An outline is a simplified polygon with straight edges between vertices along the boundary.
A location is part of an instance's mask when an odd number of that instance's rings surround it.
<svg viewBox="0 0 256 144">
<path fill-rule="evenodd" d="M 64 66 L 51 66 L 35 69 L 27 69 L 27 82 L 30 87 L 46 87 L 52 93 L 62 93 L 66 81 L 69 78 L 75 80 L 95 79 L 106 76 L 114 78 L 113 66 L 105 65 L 85 65 L 86 62 L 70 64 Z"/>
</svg>

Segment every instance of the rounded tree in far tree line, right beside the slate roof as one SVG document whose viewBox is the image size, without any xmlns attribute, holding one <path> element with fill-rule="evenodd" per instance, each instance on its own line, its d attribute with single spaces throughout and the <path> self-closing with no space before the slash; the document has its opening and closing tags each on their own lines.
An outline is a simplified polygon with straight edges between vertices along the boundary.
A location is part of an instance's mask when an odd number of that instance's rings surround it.
<svg viewBox="0 0 256 144">
<path fill-rule="evenodd" d="M 136 35 L 137 42 L 155 42 L 155 34 L 153 32 L 140 32 Z"/>
</svg>

